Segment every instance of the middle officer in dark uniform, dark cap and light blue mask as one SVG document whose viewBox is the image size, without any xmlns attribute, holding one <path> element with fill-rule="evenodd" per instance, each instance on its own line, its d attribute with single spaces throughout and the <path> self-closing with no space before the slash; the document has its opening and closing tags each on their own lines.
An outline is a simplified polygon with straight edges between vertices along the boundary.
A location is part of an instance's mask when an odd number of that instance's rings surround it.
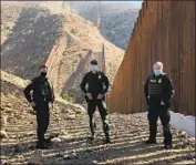
<svg viewBox="0 0 196 165">
<path fill-rule="evenodd" d="M 87 84 L 87 89 L 85 87 Z M 97 69 L 97 61 L 91 61 L 91 72 L 86 73 L 81 82 L 81 89 L 85 93 L 87 102 L 87 114 L 90 117 L 91 140 L 95 137 L 95 122 L 93 115 L 96 106 L 99 107 L 100 115 L 103 121 L 103 131 L 105 133 L 106 143 L 111 143 L 110 140 L 110 126 L 107 109 L 105 103 L 105 94 L 109 90 L 109 79 Z"/>
</svg>

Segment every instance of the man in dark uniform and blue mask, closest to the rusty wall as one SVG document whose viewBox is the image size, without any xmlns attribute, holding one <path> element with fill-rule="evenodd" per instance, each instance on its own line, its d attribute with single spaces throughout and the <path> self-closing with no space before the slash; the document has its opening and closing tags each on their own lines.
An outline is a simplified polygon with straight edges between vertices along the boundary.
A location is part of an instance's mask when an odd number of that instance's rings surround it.
<svg viewBox="0 0 196 165">
<path fill-rule="evenodd" d="M 145 144 L 156 143 L 157 120 L 161 118 L 164 132 L 164 147 L 172 148 L 172 133 L 169 127 L 171 115 L 168 107 L 174 95 L 171 79 L 163 73 L 163 63 L 154 64 L 154 74 L 151 74 L 145 82 L 145 97 L 148 105 L 149 138 Z"/>
</svg>

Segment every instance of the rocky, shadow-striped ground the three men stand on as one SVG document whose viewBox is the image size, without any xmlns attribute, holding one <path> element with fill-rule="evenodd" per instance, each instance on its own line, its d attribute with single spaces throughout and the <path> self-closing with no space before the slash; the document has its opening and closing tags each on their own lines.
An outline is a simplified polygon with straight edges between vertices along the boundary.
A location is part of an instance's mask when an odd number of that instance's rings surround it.
<svg viewBox="0 0 196 165">
<path fill-rule="evenodd" d="M 61 97 L 51 110 L 47 136 L 53 136 L 52 144 L 35 149 L 35 115 L 21 93 L 28 81 L 1 74 L 1 164 L 195 164 L 195 138 L 172 130 L 174 148 L 165 151 L 159 125 L 157 144 L 146 146 L 147 122 L 131 114 L 110 114 L 112 144 L 106 145 L 96 113 L 97 137 L 92 142 L 85 110 Z"/>
</svg>

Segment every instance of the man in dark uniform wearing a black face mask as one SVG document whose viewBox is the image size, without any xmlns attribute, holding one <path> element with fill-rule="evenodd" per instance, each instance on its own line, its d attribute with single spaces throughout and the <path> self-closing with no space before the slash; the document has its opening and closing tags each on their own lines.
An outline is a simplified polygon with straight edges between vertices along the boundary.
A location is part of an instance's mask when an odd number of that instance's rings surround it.
<svg viewBox="0 0 196 165">
<path fill-rule="evenodd" d="M 47 72 L 48 68 L 42 65 L 40 68 L 40 75 L 33 79 L 23 91 L 25 99 L 37 112 L 38 148 L 45 148 L 45 144 L 49 142 L 44 138 L 44 134 L 48 130 L 50 121 L 49 103 L 54 102 L 53 87 L 47 78 Z M 32 95 L 31 92 L 33 93 Z"/>
</svg>

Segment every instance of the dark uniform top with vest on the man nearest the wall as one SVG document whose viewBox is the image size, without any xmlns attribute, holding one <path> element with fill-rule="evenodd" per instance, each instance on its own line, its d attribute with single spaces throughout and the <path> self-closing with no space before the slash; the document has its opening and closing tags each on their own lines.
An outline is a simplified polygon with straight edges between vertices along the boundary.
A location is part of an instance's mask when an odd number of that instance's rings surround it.
<svg viewBox="0 0 196 165">
<path fill-rule="evenodd" d="M 144 91 L 147 104 L 151 105 L 159 105 L 163 101 L 165 105 L 169 106 L 174 95 L 172 81 L 166 73 L 159 76 L 151 74 L 145 82 Z"/>
</svg>

